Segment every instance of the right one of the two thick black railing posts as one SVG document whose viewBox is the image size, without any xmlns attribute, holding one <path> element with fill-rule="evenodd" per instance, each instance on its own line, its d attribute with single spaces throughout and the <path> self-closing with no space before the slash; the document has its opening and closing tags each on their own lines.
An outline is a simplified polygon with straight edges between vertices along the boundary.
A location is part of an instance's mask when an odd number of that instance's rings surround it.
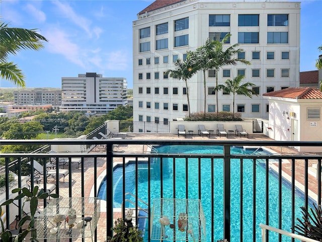
<svg viewBox="0 0 322 242">
<path fill-rule="evenodd" d="M 223 146 L 223 234 L 230 241 L 230 145 Z"/>
</svg>

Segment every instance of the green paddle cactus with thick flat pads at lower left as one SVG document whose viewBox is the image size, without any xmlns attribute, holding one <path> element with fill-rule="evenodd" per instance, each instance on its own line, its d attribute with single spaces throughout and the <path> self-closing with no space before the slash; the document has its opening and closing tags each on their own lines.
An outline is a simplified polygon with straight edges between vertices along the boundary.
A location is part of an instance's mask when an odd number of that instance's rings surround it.
<svg viewBox="0 0 322 242">
<path fill-rule="evenodd" d="M 21 192 L 21 193 L 19 193 Z M 31 232 L 31 238 L 30 240 L 38 241 L 37 240 L 37 230 L 34 228 L 35 226 L 35 213 L 38 208 L 38 199 L 45 199 L 50 197 L 57 198 L 57 194 L 51 194 L 49 195 L 48 193 L 45 193 L 43 189 L 39 190 L 38 186 L 35 186 L 32 191 L 30 191 L 28 188 L 16 188 L 12 190 L 12 193 L 19 193 L 14 199 L 9 199 L 2 203 L 0 205 L 0 213 L 2 212 L 2 206 L 10 205 L 14 203 L 15 200 L 20 200 L 23 199 L 23 205 L 22 205 L 22 210 L 24 210 L 24 206 L 27 202 L 29 203 L 30 206 L 30 214 L 24 214 L 22 211 L 23 217 L 19 220 L 19 233 L 17 236 L 15 236 L 15 241 L 20 242 L 25 239 L 27 234 Z M 1 222 L 1 227 L 2 227 L 2 233 L 1 233 L 1 240 L 3 242 L 11 242 L 13 241 L 13 234 L 10 231 L 10 229 L 5 229 L 4 227 L 4 222 L 0 218 Z"/>
</svg>

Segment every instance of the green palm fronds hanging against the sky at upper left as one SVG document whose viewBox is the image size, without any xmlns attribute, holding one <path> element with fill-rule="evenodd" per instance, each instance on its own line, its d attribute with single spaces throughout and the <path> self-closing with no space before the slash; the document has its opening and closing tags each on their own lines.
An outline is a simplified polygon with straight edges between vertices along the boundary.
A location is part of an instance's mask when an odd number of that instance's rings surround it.
<svg viewBox="0 0 322 242">
<path fill-rule="evenodd" d="M 8 24 L 0 22 L 0 77 L 18 87 L 26 87 L 24 74 L 16 64 L 8 62 L 8 57 L 21 49 L 39 50 L 44 47 L 43 41 L 48 40 L 36 29 L 9 28 Z"/>
</svg>

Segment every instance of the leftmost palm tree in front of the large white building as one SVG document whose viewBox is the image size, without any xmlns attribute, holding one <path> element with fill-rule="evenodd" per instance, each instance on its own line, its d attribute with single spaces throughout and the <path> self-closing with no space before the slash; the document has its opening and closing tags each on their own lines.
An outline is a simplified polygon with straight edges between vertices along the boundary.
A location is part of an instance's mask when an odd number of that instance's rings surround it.
<svg viewBox="0 0 322 242">
<path fill-rule="evenodd" d="M 190 100 L 189 100 L 189 88 L 188 88 L 188 80 L 197 72 L 197 66 L 193 62 L 192 52 L 187 51 L 187 57 L 184 61 L 181 61 L 181 59 L 177 59 L 175 64 L 174 70 L 168 70 L 168 73 L 170 73 L 170 77 L 183 80 L 186 84 L 186 90 L 187 90 L 187 101 L 188 101 L 188 117 L 191 115 L 190 111 Z"/>
</svg>

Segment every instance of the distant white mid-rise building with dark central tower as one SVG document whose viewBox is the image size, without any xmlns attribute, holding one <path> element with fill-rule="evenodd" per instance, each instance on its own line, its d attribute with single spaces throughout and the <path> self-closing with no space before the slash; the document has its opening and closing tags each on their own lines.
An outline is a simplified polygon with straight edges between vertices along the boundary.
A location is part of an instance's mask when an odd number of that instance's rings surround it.
<svg viewBox="0 0 322 242">
<path fill-rule="evenodd" d="M 61 78 L 62 101 L 60 111 L 85 111 L 90 114 L 107 113 L 127 104 L 125 78 L 108 78 L 101 74 L 78 74 Z"/>
</svg>

